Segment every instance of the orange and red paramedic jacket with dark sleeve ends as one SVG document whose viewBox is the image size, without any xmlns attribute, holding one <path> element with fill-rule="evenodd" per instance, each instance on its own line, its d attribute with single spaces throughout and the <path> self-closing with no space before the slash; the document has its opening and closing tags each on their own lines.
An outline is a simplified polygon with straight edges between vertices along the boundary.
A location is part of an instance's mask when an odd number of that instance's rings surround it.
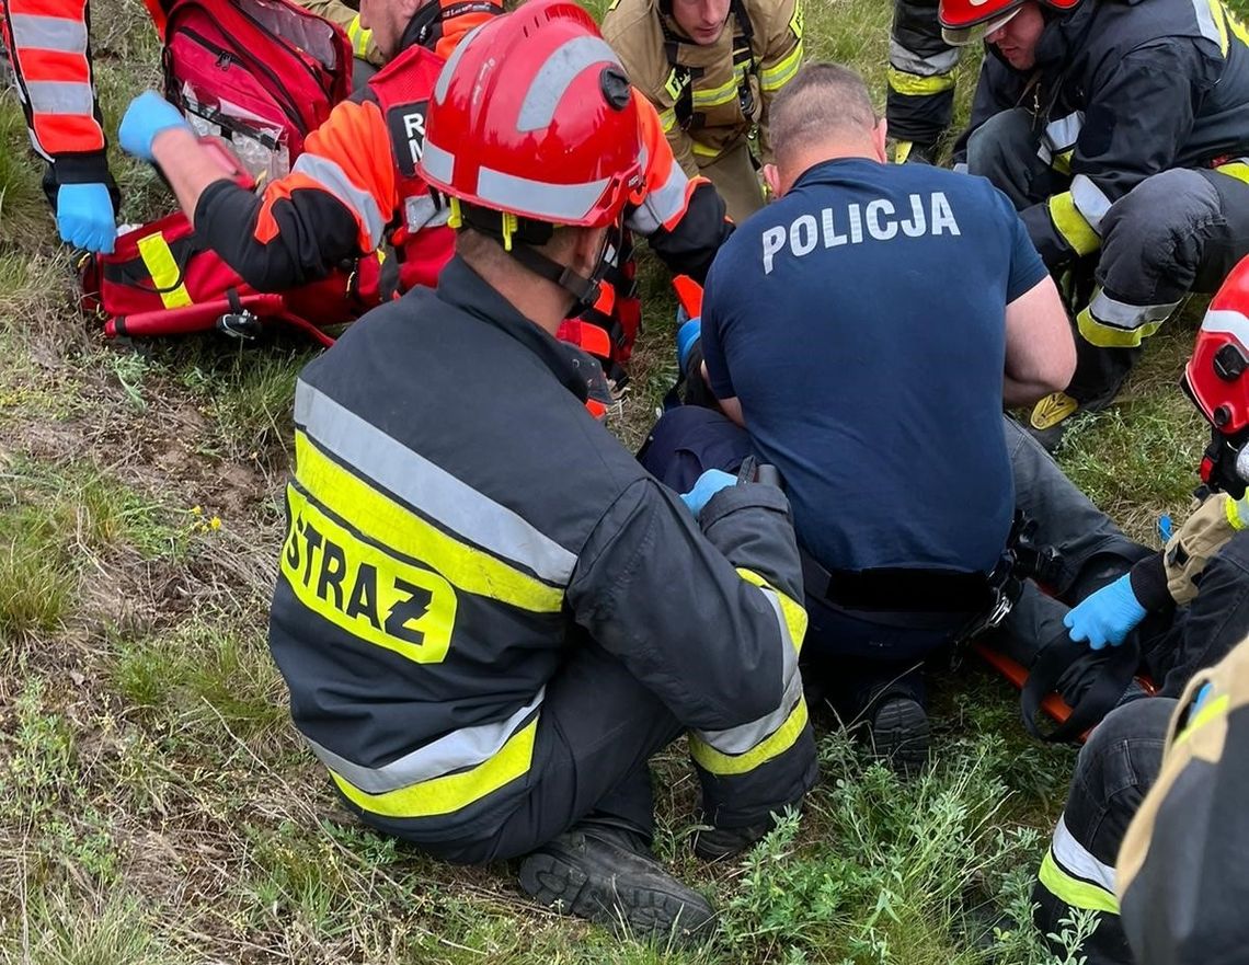
<svg viewBox="0 0 1249 965">
<path fill-rule="evenodd" d="M 473 26 L 462 22 L 467 19 L 451 20 L 445 11 L 435 50 L 408 46 L 336 106 L 309 135 L 286 177 L 259 195 L 230 181 L 210 185 L 194 217 L 201 238 L 260 291 L 323 277 L 383 243 L 393 250 L 386 267 L 398 267 L 387 287 L 432 286 L 453 240 L 447 207 L 417 175 L 416 164 L 433 85 L 445 57 Z M 673 161 L 654 109 L 636 97 L 646 187 L 628 208 L 628 226 L 649 238 L 672 270 L 701 280 L 732 225 L 711 184 L 688 179 Z"/>
</svg>

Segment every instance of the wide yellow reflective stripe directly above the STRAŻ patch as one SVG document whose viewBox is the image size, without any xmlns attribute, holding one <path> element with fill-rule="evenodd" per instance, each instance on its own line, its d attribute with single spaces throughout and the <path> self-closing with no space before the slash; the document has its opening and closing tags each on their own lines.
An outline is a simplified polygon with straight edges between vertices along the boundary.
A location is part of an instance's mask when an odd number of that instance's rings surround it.
<svg viewBox="0 0 1249 965">
<path fill-rule="evenodd" d="M 302 429 L 295 432 L 295 478 L 317 502 L 422 562 L 467 593 L 533 613 L 557 613 L 563 590 L 462 543 L 326 456 Z"/>
</svg>

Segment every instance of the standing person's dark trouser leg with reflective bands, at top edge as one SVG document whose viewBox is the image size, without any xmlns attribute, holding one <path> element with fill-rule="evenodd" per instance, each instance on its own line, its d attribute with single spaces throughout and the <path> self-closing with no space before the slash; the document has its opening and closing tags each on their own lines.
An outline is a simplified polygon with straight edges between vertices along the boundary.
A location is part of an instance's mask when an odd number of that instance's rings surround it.
<svg viewBox="0 0 1249 965">
<path fill-rule="evenodd" d="M 938 141 L 954 117 L 958 54 L 942 37 L 937 0 L 894 0 L 884 119 L 898 164 L 937 161 Z"/>
</svg>

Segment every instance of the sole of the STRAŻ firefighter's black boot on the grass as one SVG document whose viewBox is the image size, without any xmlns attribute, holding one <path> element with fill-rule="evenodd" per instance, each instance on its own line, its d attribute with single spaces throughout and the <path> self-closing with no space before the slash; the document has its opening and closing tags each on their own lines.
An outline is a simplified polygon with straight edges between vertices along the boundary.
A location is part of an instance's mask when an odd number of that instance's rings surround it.
<svg viewBox="0 0 1249 965">
<path fill-rule="evenodd" d="M 713 915 L 677 895 L 627 880 L 592 881 L 582 869 L 552 854 L 532 854 L 520 871 L 521 888 L 538 904 L 637 938 L 701 938 Z"/>
</svg>

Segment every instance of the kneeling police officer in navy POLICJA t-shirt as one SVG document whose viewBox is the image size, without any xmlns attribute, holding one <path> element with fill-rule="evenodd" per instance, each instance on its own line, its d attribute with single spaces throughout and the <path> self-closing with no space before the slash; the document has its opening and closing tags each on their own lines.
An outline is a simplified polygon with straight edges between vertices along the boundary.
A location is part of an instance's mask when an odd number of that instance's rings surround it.
<svg viewBox="0 0 1249 965">
<path fill-rule="evenodd" d="M 1013 518 L 1002 406 L 1067 385 L 1058 292 L 987 180 L 886 165 L 862 80 L 806 66 L 772 112 L 778 200 L 707 277 L 722 409 L 774 464 L 808 569 L 808 677 L 878 753 L 927 755 L 918 667 L 983 608 Z"/>
</svg>

